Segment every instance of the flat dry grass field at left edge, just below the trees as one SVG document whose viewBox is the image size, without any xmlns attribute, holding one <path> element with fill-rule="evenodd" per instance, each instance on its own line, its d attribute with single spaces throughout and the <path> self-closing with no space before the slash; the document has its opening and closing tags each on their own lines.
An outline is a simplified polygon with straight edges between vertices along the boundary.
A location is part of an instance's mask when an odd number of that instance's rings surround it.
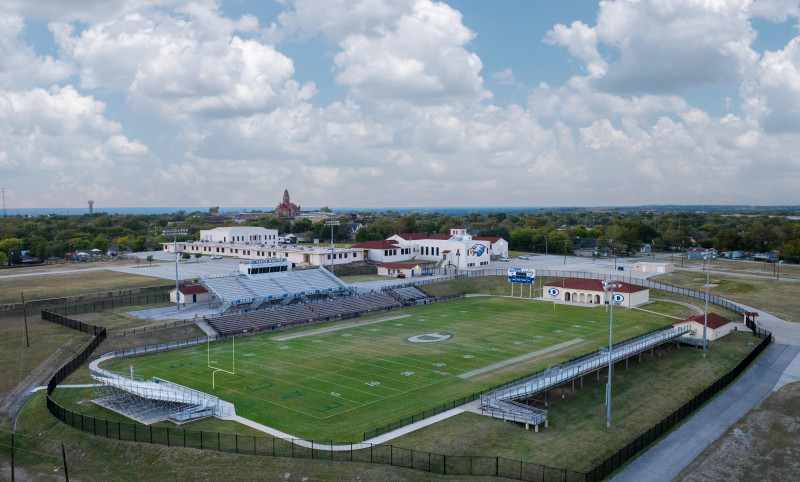
<svg viewBox="0 0 800 482">
<path fill-rule="evenodd" d="M 167 284 L 161 278 L 107 270 L 0 277 L 0 304 L 19 303 L 22 293 L 31 301 Z"/>
</svg>

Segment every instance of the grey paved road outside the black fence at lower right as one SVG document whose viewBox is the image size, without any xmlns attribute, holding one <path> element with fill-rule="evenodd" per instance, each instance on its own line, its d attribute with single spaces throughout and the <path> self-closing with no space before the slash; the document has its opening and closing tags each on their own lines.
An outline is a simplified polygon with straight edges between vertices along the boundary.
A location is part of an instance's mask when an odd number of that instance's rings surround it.
<svg viewBox="0 0 800 482">
<path fill-rule="evenodd" d="M 615 481 L 672 480 L 731 425 L 772 393 L 800 346 L 772 344 L 753 366 L 679 429 L 626 467 Z"/>
</svg>

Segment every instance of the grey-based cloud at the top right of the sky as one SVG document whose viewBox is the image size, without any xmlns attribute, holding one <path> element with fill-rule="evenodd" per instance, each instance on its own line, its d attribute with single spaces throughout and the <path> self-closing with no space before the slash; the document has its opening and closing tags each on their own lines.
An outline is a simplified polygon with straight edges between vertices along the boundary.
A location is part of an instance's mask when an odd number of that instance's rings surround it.
<svg viewBox="0 0 800 482">
<path fill-rule="evenodd" d="M 601 2 L 597 25 L 556 25 L 547 42 L 567 47 L 596 86 L 617 93 L 680 92 L 735 86 L 758 60 L 750 0 Z M 601 54 L 604 46 L 612 60 Z"/>
</svg>

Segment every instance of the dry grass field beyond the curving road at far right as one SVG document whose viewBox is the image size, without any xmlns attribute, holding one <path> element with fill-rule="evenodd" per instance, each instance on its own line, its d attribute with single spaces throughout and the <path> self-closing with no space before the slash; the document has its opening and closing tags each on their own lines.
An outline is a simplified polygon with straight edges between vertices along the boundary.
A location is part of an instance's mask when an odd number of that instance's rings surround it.
<svg viewBox="0 0 800 482">
<path fill-rule="evenodd" d="M 705 291 L 706 274 L 676 271 L 651 278 L 654 281 Z M 800 283 L 711 273 L 710 294 L 761 308 L 786 321 L 800 321 Z M 716 285 L 716 286 L 714 286 Z M 699 300 L 696 300 L 699 303 Z"/>
</svg>

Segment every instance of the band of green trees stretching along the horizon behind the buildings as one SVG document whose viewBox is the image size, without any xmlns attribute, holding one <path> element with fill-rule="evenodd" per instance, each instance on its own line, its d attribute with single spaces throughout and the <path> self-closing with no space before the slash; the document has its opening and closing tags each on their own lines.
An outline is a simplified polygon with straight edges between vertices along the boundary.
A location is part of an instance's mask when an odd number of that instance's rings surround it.
<svg viewBox="0 0 800 482">
<path fill-rule="evenodd" d="M 514 251 L 563 254 L 576 247 L 595 245 L 617 255 L 634 254 L 649 244 L 658 251 L 689 247 L 719 251 L 763 253 L 778 250 L 781 259 L 800 262 L 800 220 L 784 215 L 726 215 L 718 212 L 658 212 L 642 210 L 564 210 L 536 213 L 470 213 L 451 216 L 438 213 L 362 212 L 334 216 L 334 242 L 386 239 L 393 234 L 421 232 L 449 234 L 464 227 L 479 236 L 501 237 Z M 353 234 L 348 223 L 362 225 Z M 283 233 L 303 233 L 307 239 L 331 241 L 326 220 L 291 220 L 263 213 L 237 223 L 210 212 L 161 215 L 53 215 L 0 218 L 0 265 L 17 264 L 28 251 L 40 259 L 63 258 L 68 252 L 109 248 L 118 251 L 161 249 L 172 238 L 165 229 L 180 227 L 188 234 L 179 241 L 199 239 L 201 229 L 218 226 L 261 226 Z M 591 242 L 587 242 L 591 240 Z"/>
</svg>

